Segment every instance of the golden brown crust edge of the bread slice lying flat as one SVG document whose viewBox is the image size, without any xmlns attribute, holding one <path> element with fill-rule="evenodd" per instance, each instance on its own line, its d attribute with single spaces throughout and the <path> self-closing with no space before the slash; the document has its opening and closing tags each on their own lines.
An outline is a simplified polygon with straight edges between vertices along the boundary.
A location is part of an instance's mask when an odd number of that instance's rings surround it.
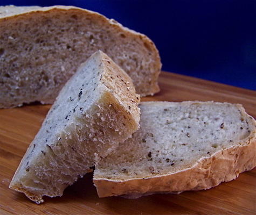
<svg viewBox="0 0 256 215">
<path fill-rule="evenodd" d="M 256 131 L 237 147 L 204 157 L 190 168 L 169 175 L 128 181 L 94 179 L 99 197 L 130 195 L 140 197 L 154 192 L 205 190 L 229 182 L 256 166 Z"/>
</svg>

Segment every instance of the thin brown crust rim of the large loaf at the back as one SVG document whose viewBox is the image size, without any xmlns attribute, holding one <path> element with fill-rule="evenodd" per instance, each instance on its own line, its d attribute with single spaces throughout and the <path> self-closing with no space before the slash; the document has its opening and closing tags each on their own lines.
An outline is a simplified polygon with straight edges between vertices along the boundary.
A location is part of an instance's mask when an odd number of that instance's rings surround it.
<svg viewBox="0 0 256 215">
<path fill-rule="evenodd" d="M 141 96 L 147 96 L 147 95 L 154 95 L 156 92 L 160 91 L 160 88 L 158 87 L 158 76 L 161 71 L 161 60 L 159 52 L 154 44 L 153 41 L 151 41 L 146 35 L 135 32 L 133 30 L 130 30 L 127 27 L 122 26 L 120 23 L 117 23 L 114 19 L 108 19 L 105 16 L 101 15 L 100 13 L 89 11 L 86 9 L 77 8 L 75 6 L 49 6 L 49 7 L 38 7 L 38 6 L 29 6 L 29 7 L 16 7 L 16 6 L 2 6 L 0 7 L 0 23 L 2 21 L 8 21 L 10 19 L 18 19 L 18 17 L 31 17 L 33 14 L 39 14 L 43 13 L 43 16 L 47 16 L 47 13 L 53 12 L 58 13 L 61 11 L 70 11 L 70 12 L 84 12 L 88 14 L 92 19 L 97 20 L 99 23 L 102 23 L 103 25 L 109 25 L 115 28 L 117 32 L 123 33 L 126 35 L 126 37 L 131 38 L 139 38 L 144 44 L 146 44 L 150 50 L 151 50 L 151 60 L 154 61 L 154 71 L 148 70 L 147 75 L 150 77 L 150 81 L 147 83 L 138 83 L 135 84 L 135 88 L 137 93 L 139 93 Z M 133 72 L 133 71 L 132 71 Z M 137 72 L 136 72 L 137 73 Z M 142 78 L 143 79 L 143 78 Z M 135 80 L 136 81 L 136 80 Z M 40 101 L 42 104 L 51 104 L 54 101 L 54 98 L 38 98 L 37 101 Z M 10 102 L 3 102 L 3 104 L 0 104 L 0 108 L 8 108 L 8 107 L 14 107 L 14 106 L 21 106 L 22 103 L 30 103 L 30 99 L 24 99 L 23 102 L 10 104 Z M 2 102 L 1 102 L 2 103 Z"/>
</svg>

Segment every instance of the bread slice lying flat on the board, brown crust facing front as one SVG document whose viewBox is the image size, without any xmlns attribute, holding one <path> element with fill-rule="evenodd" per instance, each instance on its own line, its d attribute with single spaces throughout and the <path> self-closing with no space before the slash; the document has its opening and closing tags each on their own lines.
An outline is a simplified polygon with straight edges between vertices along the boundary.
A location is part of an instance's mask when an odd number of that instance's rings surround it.
<svg viewBox="0 0 256 215">
<path fill-rule="evenodd" d="M 256 166 L 256 122 L 240 104 L 140 108 L 140 129 L 95 167 L 100 197 L 209 189 Z"/>
</svg>

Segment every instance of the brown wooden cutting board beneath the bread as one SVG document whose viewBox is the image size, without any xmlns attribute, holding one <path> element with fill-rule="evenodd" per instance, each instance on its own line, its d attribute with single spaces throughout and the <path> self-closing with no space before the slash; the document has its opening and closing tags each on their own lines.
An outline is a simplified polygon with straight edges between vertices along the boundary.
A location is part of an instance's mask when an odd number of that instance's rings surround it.
<svg viewBox="0 0 256 215">
<path fill-rule="evenodd" d="M 160 93 L 142 101 L 240 103 L 256 118 L 256 91 L 165 72 L 160 87 Z M 0 214 L 256 214 L 256 168 L 210 190 L 139 199 L 98 198 L 92 174 L 87 174 L 63 197 L 45 197 L 40 205 L 31 202 L 8 186 L 49 109 L 50 105 L 32 104 L 0 110 Z"/>
</svg>

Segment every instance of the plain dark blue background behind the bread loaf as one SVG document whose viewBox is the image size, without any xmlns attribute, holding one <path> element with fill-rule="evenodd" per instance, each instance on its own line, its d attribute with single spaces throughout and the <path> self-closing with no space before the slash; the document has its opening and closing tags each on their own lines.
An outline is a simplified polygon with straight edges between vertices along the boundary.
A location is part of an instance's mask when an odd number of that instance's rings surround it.
<svg viewBox="0 0 256 215">
<path fill-rule="evenodd" d="M 163 70 L 256 90 L 256 1 L 0 0 L 75 5 L 148 35 Z"/>
</svg>

